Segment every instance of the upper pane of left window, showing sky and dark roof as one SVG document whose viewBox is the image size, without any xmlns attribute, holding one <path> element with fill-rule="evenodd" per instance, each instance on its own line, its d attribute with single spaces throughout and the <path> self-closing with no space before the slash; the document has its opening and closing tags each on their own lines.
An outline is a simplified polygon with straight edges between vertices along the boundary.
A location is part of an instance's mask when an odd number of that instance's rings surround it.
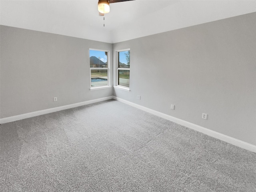
<svg viewBox="0 0 256 192">
<path fill-rule="evenodd" d="M 90 50 L 90 67 L 108 67 L 108 52 Z"/>
</svg>

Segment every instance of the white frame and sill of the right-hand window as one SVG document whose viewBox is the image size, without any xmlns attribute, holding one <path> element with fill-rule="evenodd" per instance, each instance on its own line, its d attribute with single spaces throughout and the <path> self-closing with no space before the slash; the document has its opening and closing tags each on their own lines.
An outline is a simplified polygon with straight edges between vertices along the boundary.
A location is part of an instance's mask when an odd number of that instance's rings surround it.
<svg viewBox="0 0 256 192">
<path fill-rule="evenodd" d="M 131 52 L 130 48 L 115 51 L 115 53 L 116 53 L 116 56 L 115 56 L 116 62 L 115 62 L 115 71 L 114 71 L 114 74 L 115 74 L 115 77 L 114 77 L 114 80 L 115 80 L 114 85 L 115 86 L 114 86 L 114 88 L 130 91 L 130 76 L 129 76 L 129 87 L 118 85 L 118 71 L 119 70 L 128 70 L 129 73 L 130 73 L 130 66 L 129 66 L 129 68 L 120 68 L 119 67 L 119 52 L 123 52 L 123 51 L 130 51 Z"/>
</svg>

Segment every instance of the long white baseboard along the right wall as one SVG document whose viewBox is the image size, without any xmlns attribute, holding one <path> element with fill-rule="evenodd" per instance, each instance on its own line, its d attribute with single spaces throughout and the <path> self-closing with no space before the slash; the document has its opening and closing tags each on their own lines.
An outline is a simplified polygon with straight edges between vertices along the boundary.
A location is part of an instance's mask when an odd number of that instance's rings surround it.
<svg viewBox="0 0 256 192">
<path fill-rule="evenodd" d="M 190 122 L 187 122 L 187 121 L 178 119 L 178 118 L 176 118 L 176 117 L 172 117 L 172 116 L 170 116 L 170 115 L 167 115 L 167 114 L 164 114 L 164 113 L 161 113 L 161 112 L 152 110 L 152 109 L 150 109 L 150 108 L 146 108 L 146 107 L 144 107 L 144 106 L 141 106 L 141 105 L 132 103 L 132 102 L 130 102 L 130 101 L 126 101 L 126 100 L 121 99 L 121 98 L 118 98 L 118 97 L 116 97 L 116 96 L 113 96 L 113 99 L 118 100 L 118 101 L 120 101 L 120 102 L 123 102 L 123 103 L 125 103 L 125 104 L 128 104 L 128 105 L 130 105 L 130 106 L 136 107 L 136 108 L 138 108 L 138 109 L 144 110 L 144 111 L 149 112 L 149 113 L 151 113 L 151 114 L 154 114 L 154 115 L 156 115 L 156 116 L 162 117 L 162 118 L 164 118 L 164 119 L 170 120 L 170 121 L 175 122 L 175 123 L 177 123 L 177 124 L 183 125 L 183 126 L 185 126 L 185 127 L 191 128 L 191 129 L 196 130 L 196 131 L 198 131 L 198 132 L 204 133 L 204 134 L 206 134 L 206 135 L 208 135 L 208 136 L 217 138 L 217 139 L 219 139 L 219 140 L 225 141 L 225 142 L 227 142 L 227 143 L 233 144 L 233 145 L 238 146 L 238 147 L 240 147 L 240 148 L 244 148 L 244 149 L 246 149 L 246 150 L 249 150 L 249 151 L 252 151 L 252 152 L 255 152 L 255 153 L 256 153 L 256 146 L 255 146 L 255 145 L 252 145 L 252 144 L 250 144 L 250 143 L 246 143 L 246 142 L 244 142 L 244 141 L 241 141 L 241 140 L 232 138 L 232 137 L 230 137 L 230 136 L 227 136 L 227 135 L 218 133 L 218 132 L 216 132 L 216 131 L 213 131 L 213 130 L 204 128 L 204 127 L 202 127 L 202 126 L 199 126 L 199 125 L 196 125 L 196 124 L 193 124 L 193 123 L 190 123 Z"/>
</svg>

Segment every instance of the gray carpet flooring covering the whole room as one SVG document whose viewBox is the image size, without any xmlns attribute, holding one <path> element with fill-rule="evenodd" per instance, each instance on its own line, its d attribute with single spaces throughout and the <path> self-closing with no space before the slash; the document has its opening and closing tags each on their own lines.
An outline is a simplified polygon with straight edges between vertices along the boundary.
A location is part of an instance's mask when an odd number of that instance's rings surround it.
<svg viewBox="0 0 256 192">
<path fill-rule="evenodd" d="M 1 125 L 2 192 L 255 192 L 256 154 L 108 100 Z"/>
</svg>

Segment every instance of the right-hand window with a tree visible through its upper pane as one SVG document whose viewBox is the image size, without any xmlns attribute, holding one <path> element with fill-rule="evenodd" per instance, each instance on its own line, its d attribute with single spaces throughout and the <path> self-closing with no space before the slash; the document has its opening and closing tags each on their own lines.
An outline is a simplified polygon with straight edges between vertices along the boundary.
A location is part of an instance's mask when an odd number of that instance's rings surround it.
<svg viewBox="0 0 256 192">
<path fill-rule="evenodd" d="M 130 50 L 118 51 L 117 85 L 130 87 Z"/>
</svg>

